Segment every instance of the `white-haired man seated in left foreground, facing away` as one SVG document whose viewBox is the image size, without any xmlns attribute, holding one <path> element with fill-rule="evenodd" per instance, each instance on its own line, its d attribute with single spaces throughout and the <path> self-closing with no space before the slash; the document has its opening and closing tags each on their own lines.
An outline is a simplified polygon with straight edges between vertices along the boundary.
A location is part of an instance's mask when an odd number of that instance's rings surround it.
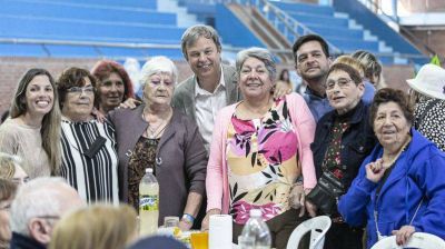
<svg viewBox="0 0 445 249">
<path fill-rule="evenodd" d="M 27 182 L 11 205 L 11 249 L 47 248 L 60 217 L 81 206 L 80 196 L 62 178 Z"/>
</svg>

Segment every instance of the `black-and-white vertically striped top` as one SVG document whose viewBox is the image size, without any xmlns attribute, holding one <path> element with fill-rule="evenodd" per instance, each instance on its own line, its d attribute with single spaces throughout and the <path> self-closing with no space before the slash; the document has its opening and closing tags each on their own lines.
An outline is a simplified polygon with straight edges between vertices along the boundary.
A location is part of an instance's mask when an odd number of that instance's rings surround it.
<svg viewBox="0 0 445 249">
<path fill-rule="evenodd" d="M 117 205 L 118 156 L 116 151 L 115 128 L 109 122 L 97 120 L 72 122 L 62 119 L 62 166 L 61 176 L 76 188 L 87 203 L 96 201 Z M 98 137 L 105 143 L 91 150 Z M 96 153 L 92 153 L 96 152 Z"/>
</svg>

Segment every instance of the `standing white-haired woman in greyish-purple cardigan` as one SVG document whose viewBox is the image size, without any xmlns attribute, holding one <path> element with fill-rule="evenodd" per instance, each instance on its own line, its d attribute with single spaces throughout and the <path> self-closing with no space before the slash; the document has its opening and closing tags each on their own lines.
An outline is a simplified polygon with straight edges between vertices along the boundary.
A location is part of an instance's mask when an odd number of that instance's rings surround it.
<svg viewBox="0 0 445 249">
<path fill-rule="evenodd" d="M 182 217 L 188 230 L 201 206 L 206 150 L 196 123 L 171 107 L 178 78 L 174 62 L 154 57 L 141 70 L 144 104 L 109 114 L 116 127 L 120 199 L 136 209 L 139 182 L 152 168 L 159 182 L 159 225 L 166 216 Z"/>
</svg>

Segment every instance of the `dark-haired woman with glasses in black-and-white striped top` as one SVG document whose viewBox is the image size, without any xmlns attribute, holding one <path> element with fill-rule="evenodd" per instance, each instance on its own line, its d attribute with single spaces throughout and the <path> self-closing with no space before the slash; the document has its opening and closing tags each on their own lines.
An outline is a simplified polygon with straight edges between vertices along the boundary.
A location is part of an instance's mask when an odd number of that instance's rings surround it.
<svg viewBox="0 0 445 249">
<path fill-rule="evenodd" d="M 87 202 L 118 203 L 115 129 L 91 116 L 96 78 L 88 70 L 70 68 L 57 88 L 62 110 L 60 175 Z"/>
</svg>

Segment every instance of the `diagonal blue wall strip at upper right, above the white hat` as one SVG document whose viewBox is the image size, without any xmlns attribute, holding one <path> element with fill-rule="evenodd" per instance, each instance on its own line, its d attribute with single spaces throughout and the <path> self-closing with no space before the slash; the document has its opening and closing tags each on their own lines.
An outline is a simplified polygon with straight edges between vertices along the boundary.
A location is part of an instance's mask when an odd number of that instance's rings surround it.
<svg viewBox="0 0 445 249">
<path fill-rule="evenodd" d="M 414 54 L 421 53 L 413 44 L 357 0 L 334 0 L 333 2 L 336 11 L 348 13 L 350 18 L 363 24 L 365 29 L 377 36 L 379 40 L 393 47 L 393 51 Z"/>
</svg>

